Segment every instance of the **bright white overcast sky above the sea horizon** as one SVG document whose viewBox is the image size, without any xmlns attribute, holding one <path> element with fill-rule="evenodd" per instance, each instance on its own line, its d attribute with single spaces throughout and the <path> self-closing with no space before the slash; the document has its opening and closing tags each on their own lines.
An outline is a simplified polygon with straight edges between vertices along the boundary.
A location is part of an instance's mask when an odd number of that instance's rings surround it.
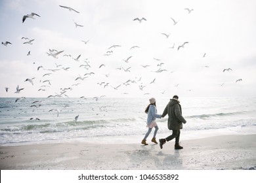
<svg viewBox="0 0 256 183">
<path fill-rule="evenodd" d="M 256 96 L 256 1 L 0 2 L 0 97 Z"/>
</svg>

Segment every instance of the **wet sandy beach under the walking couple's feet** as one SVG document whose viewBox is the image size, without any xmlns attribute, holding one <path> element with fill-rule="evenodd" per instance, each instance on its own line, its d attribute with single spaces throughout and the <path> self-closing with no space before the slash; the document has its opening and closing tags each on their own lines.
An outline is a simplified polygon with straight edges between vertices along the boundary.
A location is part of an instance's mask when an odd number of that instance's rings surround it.
<svg viewBox="0 0 256 183">
<path fill-rule="evenodd" d="M 88 139 L 89 141 L 89 139 Z M 160 149 L 148 141 L 95 144 L 61 142 L 0 147 L 1 170 L 255 170 L 256 135 L 219 135 L 170 141 Z"/>
</svg>

